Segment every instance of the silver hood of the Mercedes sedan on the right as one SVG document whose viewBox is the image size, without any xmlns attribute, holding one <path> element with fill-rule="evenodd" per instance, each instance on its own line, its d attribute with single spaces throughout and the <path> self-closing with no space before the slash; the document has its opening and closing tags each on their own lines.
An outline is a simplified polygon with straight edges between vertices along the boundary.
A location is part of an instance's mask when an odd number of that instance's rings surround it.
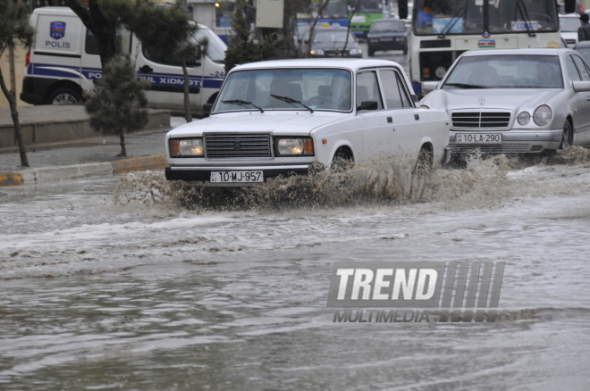
<svg viewBox="0 0 590 391">
<path fill-rule="evenodd" d="M 519 112 L 534 110 L 561 91 L 561 88 L 436 89 L 422 99 L 420 104 L 447 112 L 469 108 L 508 109 Z"/>
</svg>

